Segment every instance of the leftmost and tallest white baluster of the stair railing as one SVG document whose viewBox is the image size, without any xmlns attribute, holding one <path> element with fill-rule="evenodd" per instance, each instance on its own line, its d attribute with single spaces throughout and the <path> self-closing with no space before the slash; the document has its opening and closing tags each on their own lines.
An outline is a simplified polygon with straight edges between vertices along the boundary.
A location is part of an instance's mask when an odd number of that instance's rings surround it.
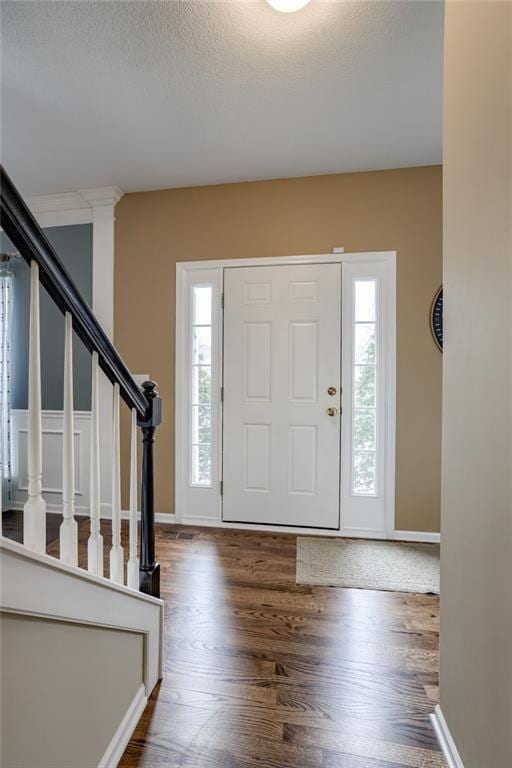
<svg viewBox="0 0 512 768">
<path fill-rule="evenodd" d="M 28 361 L 28 499 L 23 507 L 23 543 L 46 552 L 46 502 L 43 499 L 41 421 L 41 348 L 39 328 L 39 266 L 30 265 L 30 330 Z"/>
</svg>

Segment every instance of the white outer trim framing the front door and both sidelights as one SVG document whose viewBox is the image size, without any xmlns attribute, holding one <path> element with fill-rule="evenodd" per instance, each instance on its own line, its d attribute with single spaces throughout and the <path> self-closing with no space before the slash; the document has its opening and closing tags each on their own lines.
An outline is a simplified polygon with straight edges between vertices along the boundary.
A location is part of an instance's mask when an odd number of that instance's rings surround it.
<svg viewBox="0 0 512 768">
<path fill-rule="evenodd" d="M 224 269 L 233 267 L 264 267 L 264 266 L 288 266 L 297 264 L 343 264 L 364 261 L 386 262 L 389 268 L 388 306 L 385 333 L 388 339 L 388 356 L 386 366 L 386 415 L 385 415 L 385 527 L 383 533 L 371 530 L 350 530 L 350 536 L 363 538 L 394 539 L 395 536 L 395 438 L 396 438 L 396 251 L 371 251 L 360 253 L 320 253 L 290 256 L 270 256 L 242 259 L 216 259 L 201 261 L 182 261 L 176 264 L 176 360 L 175 360 L 175 517 L 176 522 L 182 525 L 213 526 L 218 528 L 241 528 L 243 530 L 259 530 L 281 533 L 303 533 L 308 536 L 346 536 L 342 529 L 322 528 L 298 528 L 295 526 L 281 525 L 256 525 L 250 523 L 228 523 L 222 520 L 222 504 L 219 488 L 209 489 L 212 495 L 216 495 L 215 510 L 207 515 L 190 514 L 190 504 L 187 499 L 189 491 L 185 482 L 186 472 L 184 464 L 188 467 L 188 294 L 190 280 L 194 273 L 201 271 L 218 270 L 220 273 L 220 290 L 224 290 Z M 218 296 L 220 301 L 220 296 Z M 219 325 L 221 325 L 219 323 Z M 222 337 L 222 328 L 220 328 Z M 343 326 L 342 326 L 343 335 Z M 218 370 L 222 370 L 223 350 L 222 344 L 217 345 L 217 355 L 214 364 Z M 222 403 L 220 396 L 218 402 L 212 403 L 219 414 L 222 424 Z M 221 432 L 221 431 L 220 431 Z M 222 445 L 218 441 L 214 459 L 221 465 Z M 204 494 L 203 489 L 198 490 Z M 340 497 L 341 504 L 341 497 Z M 342 512 L 340 514 L 340 526 Z"/>
</svg>

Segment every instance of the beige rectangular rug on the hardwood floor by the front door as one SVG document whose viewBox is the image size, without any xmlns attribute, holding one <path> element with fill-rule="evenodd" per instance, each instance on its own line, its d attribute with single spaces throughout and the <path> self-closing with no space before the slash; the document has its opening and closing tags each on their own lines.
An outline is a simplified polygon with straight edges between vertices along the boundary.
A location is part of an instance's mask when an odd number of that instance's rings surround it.
<svg viewBox="0 0 512 768">
<path fill-rule="evenodd" d="M 297 584 L 439 594 L 439 545 L 297 537 Z"/>
</svg>

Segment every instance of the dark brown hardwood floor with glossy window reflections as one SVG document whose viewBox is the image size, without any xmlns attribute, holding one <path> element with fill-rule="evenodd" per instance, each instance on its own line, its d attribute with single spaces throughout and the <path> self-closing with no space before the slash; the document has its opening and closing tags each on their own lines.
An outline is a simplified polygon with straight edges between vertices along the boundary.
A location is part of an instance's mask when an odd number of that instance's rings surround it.
<svg viewBox="0 0 512 768">
<path fill-rule="evenodd" d="M 157 525 L 164 679 L 120 768 L 445 765 L 429 721 L 438 598 L 297 586 L 295 539 Z"/>
</svg>

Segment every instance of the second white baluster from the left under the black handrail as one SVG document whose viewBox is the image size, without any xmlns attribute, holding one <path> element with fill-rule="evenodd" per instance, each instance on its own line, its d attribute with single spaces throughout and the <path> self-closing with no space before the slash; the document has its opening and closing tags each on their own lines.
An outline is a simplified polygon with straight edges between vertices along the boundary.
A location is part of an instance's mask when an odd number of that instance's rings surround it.
<svg viewBox="0 0 512 768">
<path fill-rule="evenodd" d="M 78 565 L 78 525 L 75 520 L 75 444 L 73 428 L 73 319 L 65 316 L 64 432 L 62 440 L 62 523 L 60 559 Z"/>
</svg>

